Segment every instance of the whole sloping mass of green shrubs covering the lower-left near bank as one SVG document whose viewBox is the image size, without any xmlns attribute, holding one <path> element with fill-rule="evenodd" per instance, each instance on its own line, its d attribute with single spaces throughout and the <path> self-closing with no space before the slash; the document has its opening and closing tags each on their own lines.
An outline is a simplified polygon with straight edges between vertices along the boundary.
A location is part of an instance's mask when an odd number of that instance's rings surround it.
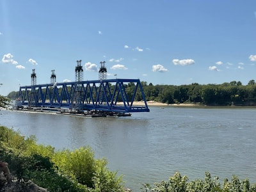
<svg viewBox="0 0 256 192">
<path fill-rule="evenodd" d="M 94 159 L 90 147 L 56 152 L 37 145 L 34 136 L 0 126 L 0 159 L 18 179 L 49 191 L 124 191 L 122 177 L 108 170 L 106 159 Z"/>
</svg>

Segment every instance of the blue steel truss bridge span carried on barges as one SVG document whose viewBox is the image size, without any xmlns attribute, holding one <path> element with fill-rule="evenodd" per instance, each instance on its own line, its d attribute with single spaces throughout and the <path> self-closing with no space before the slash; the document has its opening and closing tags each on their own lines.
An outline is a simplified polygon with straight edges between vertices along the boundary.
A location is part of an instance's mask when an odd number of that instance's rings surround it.
<svg viewBox="0 0 256 192">
<path fill-rule="evenodd" d="M 128 86 L 128 84 L 130 86 Z M 132 95 L 128 95 L 129 88 Z M 78 94 L 78 96 L 77 96 Z M 143 100 L 133 106 L 136 94 Z M 20 86 L 22 105 L 42 108 L 73 108 L 79 102 L 82 111 L 112 111 L 118 113 L 149 112 L 140 79 L 104 79 L 55 84 Z M 78 100 L 77 100 L 78 97 Z"/>
</svg>

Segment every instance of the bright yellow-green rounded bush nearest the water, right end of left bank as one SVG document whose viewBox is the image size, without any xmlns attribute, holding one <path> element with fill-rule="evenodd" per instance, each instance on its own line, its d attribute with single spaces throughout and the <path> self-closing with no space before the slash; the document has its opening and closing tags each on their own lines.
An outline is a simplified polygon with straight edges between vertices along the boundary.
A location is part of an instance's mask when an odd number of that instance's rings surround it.
<svg viewBox="0 0 256 192">
<path fill-rule="evenodd" d="M 95 160 L 90 147 L 56 152 L 52 161 L 70 179 L 88 188 L 95 188 L 96 191 L 109 191 L 109 189 L 122 191 L 123 189 L 122 177 L 116 177 L 116 172 L 110 172 L 106 168 L 106 159 Z"/>
</svg>

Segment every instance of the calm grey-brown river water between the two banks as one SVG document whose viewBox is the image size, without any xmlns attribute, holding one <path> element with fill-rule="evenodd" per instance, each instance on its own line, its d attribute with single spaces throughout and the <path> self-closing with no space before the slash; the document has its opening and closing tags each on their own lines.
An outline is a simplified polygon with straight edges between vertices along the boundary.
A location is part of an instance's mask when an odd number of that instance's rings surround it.
<svg viewBox="0 0 256 192">
<path fill-rule="evenodd" d="M 256 182 L 256 108 L 151 107 L 118 118 L 0 113 L 0 125 L 56 150 L 92 147 L 133 191 L 175 172 L 189 180 L 204 179 L 208 171 L 221 183 L 233 174 Z"/>
</svg>

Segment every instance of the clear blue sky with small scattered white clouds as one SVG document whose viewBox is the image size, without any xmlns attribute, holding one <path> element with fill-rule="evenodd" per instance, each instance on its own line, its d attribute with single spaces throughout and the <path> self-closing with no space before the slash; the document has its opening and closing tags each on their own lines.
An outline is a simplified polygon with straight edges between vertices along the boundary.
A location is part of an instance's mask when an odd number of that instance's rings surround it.
<svg viewBox="0 0 256 192">
<path fill-rule="evenodd" d="M 31 84 L 108 79 L 153 84 L 256 80 L 256 1 L 0 1 L 0 94 Z M 116 74 L 116 76 L 114 76 Z"/>
</svg>

